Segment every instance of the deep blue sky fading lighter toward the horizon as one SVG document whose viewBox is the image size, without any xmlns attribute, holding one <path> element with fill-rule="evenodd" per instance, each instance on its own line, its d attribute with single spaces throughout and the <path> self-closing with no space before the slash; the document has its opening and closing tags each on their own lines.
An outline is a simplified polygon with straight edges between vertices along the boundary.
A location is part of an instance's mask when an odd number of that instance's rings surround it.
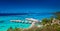
<svg viewBox="0 0 60 31">
<path fill-rule="evenodd" d="M 50 13 L 60 11 L 60 0 L 0 0 L 0 13 Z"/>
</svg>

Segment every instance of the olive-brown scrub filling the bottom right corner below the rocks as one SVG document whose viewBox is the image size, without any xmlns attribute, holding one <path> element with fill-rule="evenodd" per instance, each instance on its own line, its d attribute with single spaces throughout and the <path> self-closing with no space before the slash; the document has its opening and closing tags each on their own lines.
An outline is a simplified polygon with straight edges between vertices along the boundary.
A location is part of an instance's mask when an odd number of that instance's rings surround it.
<svg viewBox="0 0 60 31">
<path fill-rule="evenodd" d="M 53 25 L 45 26 L 40 31 L 60 31 L 60 25 L 53 24 Z"/>
</svg>

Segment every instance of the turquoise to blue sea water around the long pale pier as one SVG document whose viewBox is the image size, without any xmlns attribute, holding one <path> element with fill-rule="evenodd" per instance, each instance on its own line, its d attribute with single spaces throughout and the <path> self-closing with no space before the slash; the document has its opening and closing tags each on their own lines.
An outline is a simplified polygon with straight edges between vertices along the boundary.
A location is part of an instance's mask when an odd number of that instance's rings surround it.
<svg viewBox="0 0 60 31">
<path fill-rule="evenodd" d="M 50 16 L 53 16 L 53 14 L 27 14 L 27 15 L 0 16 L 0 31 L 7 31 L 7 29 L 10 27 L 28 28 L 31 25 L 29 23 L 28 24 L 14 23 L 14 22 L 10 22 L 10 20 L 27 21 L 26 18 L 34 18 L 41 21 L 43 18 L 50 18 Z"/>
</svg>

